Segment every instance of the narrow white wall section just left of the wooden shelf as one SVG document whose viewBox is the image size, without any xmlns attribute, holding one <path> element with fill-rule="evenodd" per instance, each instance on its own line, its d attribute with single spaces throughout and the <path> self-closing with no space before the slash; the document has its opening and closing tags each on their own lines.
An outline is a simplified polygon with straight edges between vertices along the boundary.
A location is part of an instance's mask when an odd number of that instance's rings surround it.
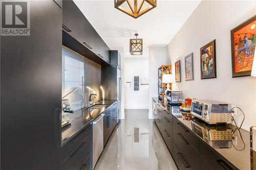
<svg viewBox="0 0 256 170">
<path fill-rule="evenodd" d="M 161 65 L 166 65 L 166 46 L 150 46 L 150 89 L 148 102 L 150 103 L 150 109 L 148 111 L 148 118 L 152 119 L 152 97 L 158 96 L 158 68 Z"/>
</svg>

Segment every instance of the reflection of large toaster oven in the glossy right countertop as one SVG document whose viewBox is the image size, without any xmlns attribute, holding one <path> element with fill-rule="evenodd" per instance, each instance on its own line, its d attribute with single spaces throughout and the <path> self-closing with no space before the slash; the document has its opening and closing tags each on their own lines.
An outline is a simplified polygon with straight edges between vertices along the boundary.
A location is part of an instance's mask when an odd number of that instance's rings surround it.
<svg viewBox="0 0 256 170">
<path fill-rule="evenodd" d="M 232 148 L 232 129 L 227 126 L 210 126 L 196 120 L 191 120 L 191 127 L 212 148 Z"/>
</svg>

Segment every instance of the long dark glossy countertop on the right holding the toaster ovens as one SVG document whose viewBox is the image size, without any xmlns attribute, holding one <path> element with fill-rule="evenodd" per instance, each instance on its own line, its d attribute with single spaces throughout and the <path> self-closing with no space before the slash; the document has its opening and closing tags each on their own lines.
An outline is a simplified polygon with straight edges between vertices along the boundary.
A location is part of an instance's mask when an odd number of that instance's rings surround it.
<svg viewBox="0 0 256 170">
<path fill-rule="evenodd" d="M 220 126 L 209 126 L 208 124 L 202 122 L 199 119 L 192 118 L 191 120 L 186 120 L 182 113 L 177 111 L 177 107 L 165 107 L 158 98 L 152 98 L 155 102 L 162 105 L 165 109 L 169 110 L 181 123 L 183 123 L 187 129 L 190 130 L 194 135 L 196 135 L 200 141 L 206 143 L 213 151 L 217 152 L 224 159 L 232 163 L 239 169 L 250 169 L 250 133 L 245 130 L 236 130 L 236 127 L 228 124 L 226 127 L 227 131 L 235 131 L 232 135 L 233 140 L 229 141 L 229 146 L 227 143 L 218 143 L 218 148 L 213 147 L 214 141 L 209 141 L 204 135 L 200 134 L 200 130 L 195 128 L 195 125 L 199 125 L 203 129 L 218 130 L 218 128 L 223 128 Z M 172 112 L 173 110 L 173 112 Z M 174 111 L 175 110 L 175 111 Z M 240 135 L 240 133 L 241 135 Z M 243 142 L 244 141 L 244 142 Z M 224 147 L 222 145 L 224 144 Z"/>
</svg>

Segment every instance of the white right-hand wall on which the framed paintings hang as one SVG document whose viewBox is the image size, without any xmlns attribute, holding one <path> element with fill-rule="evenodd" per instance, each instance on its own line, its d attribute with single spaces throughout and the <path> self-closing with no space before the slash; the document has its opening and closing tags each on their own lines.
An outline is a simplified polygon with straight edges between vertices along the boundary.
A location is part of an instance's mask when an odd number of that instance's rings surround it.
<svg viewBox="0 0 256 170">
<path fill-rule="evenodd" d="M 212 99 L 231 103 L 245 112 L 242 128 L 256 125 L 256 78 L 232 78 L 230 30 L 256 13 L 255 1 L 202 1 L 168 44 L 172 65 L 181 60 L 181 83 L 184 97 Z M 217 79 L 201 80 L 200 47 L 216 39 Z M 185 81 L 184 57 L 194 53 L 194 81 Z M 173 72 L 175 68 L 173 67 Z M 243 116 L 236 117 L 241 124 Z"/>
</svg>

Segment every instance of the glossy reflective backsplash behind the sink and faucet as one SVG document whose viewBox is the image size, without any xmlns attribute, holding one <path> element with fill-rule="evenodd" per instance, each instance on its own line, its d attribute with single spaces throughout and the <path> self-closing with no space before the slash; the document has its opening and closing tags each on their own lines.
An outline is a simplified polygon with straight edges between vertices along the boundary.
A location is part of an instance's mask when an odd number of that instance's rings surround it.
<svg viewBox="0 0 256 170">
<path fill-rule="evenodd" d="M 69 100 L 70 109 L 78 110 L 88 105 L 90 93 L 97 93 L 94 102 L 99 101 L 101 66 L 63 46 L 62 48 L 62 96 Z M 92 90 L 90 90 L 90 87 Z"/>
</svg>

